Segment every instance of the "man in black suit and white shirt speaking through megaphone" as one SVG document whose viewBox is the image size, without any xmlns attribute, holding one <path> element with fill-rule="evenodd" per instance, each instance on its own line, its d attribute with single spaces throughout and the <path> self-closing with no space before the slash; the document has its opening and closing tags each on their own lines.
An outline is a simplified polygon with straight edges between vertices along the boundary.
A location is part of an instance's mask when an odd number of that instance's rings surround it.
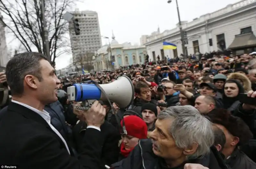
<svg viewBox="0 0 256 169">
<path fill-rule="evenodd" d="M 98 169 L 103 136 L 100 126 L 106 109 L 95 101 L 83 113 L 88 124 L 84 134 L 84 151 L 78 159 L 50 123 L 44 105 L 56 102 L 60 81 L 55 70 L 41 53 L 15 55 L 6 66 L 12 102 L 0 114 L 0 164 L 29 169 Z"/>
</svg>

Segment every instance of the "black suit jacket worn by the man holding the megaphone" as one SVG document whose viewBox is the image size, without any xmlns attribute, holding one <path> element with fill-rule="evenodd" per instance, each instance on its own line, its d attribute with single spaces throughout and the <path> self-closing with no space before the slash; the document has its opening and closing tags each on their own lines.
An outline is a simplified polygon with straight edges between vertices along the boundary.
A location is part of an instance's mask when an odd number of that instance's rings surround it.
<svg viewBox="0 0 256 169">
<path fill-rule="evenodd" d="M 87 129 L 84 151 L 76 159 L 33 110 L 11 102 L 0 112 L 1 165 L 19 165 L 19 169 L 98 169 L 103 140 L 99 130 Z"/>
</svg>

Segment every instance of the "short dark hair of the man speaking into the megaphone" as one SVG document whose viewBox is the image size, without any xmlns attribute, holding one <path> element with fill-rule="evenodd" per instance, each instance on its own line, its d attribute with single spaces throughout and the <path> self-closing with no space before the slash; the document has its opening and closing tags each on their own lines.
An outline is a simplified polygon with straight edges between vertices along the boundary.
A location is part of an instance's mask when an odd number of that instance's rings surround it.
<svg viewBox="0 0 256 169">
<path fill-rule="evenodd" d="M 38 52 L 18 53 L 8 61 L 6 65 L 7 83 L 11 88 L 12 95 L 22 95 L 24 92 L 23 81 L 26 75 L 31 74 L 42 80 L 40 60 L 47 57 Z"/>
</svg>

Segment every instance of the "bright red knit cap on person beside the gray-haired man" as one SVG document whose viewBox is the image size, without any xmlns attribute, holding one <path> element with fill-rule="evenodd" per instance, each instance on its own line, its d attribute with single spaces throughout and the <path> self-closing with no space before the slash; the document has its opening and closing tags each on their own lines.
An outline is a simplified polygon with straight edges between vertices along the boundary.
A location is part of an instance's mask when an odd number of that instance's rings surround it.
<svg viewBox="0 0 256 169">
<path fill-rule="evenodd" d="M 147 124 L 138 116 L 124 117 L 124 125 L 127 131 L 127 135 L 136 137 L 139 139 L 146 139 L 148 134 Z M 123 120 L 121 126 L 123 127 Z"/>
</svg>

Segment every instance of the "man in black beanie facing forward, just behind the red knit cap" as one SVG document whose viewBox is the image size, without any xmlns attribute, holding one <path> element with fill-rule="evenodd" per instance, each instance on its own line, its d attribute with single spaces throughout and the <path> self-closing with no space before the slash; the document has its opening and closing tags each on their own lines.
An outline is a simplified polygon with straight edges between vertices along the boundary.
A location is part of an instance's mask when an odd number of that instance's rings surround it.
<svg viewBox="0 0 256 169">
<path fill-rule="evenodd" d="M 157 105 L 153 103 L 145 103 L 141 107 L 143 120 L 148 126 L 148 131 L 155 130 L 155 121 L 157 118 Z"/>
</svg>

